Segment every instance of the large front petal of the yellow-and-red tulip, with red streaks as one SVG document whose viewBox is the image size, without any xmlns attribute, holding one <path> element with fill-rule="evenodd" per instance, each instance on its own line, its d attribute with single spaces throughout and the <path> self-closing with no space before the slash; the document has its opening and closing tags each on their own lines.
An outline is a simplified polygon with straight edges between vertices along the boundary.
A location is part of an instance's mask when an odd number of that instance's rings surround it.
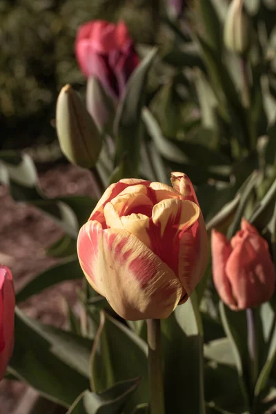
<svg viewBox="0 0 276 414">
<path fill-rule="evenodd" d="M 182 292 L 175 273 L 126 230 L 100 230 L 99 226 L 88 221 L 79 233 L 78 255 L 88 282 L 93 288 L 97 285 L 96 290 L 121 317 L 168 317 Z M 83 246 L 93 251 L 92 257 L 83 254 Z"/>
</svg>

